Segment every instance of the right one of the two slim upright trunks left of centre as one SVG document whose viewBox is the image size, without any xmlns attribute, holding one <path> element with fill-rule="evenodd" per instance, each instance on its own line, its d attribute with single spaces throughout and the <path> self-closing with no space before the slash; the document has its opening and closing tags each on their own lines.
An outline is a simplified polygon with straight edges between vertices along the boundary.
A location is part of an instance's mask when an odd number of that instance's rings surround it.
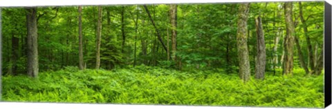
<svg viewBox="0 0 332 109">
<path fill-rule="evenodd" d="M 95 69 L 100 68 L 100 43 L 102 41 L 102 6 L 98 6 L 98 24 L 97 24 L 97 53 L 96 53 L 96 61 L 95 61 Z"/>
</svg>

